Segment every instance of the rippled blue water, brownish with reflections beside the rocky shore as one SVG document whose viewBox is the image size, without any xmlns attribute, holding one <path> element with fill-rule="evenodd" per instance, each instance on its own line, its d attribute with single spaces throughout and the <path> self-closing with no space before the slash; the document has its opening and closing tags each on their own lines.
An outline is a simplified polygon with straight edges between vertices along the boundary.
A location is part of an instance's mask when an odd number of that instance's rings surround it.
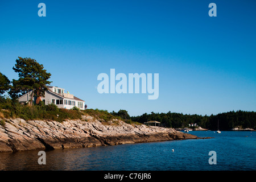
<svg viewBox="0 0 256 182">
<path fill-rule="evenodd" d="M 38 151 L 0 154 L 1 170 L 256 170 L 256 132 L 189 131 L 212 139 L 122 144 L 46 152 L 46 165 L 38 164 Z M 174 152 L 172 152 L 174 149 Z M 209 151 L 217 164 L 210 165 Z"/>
</svg>

